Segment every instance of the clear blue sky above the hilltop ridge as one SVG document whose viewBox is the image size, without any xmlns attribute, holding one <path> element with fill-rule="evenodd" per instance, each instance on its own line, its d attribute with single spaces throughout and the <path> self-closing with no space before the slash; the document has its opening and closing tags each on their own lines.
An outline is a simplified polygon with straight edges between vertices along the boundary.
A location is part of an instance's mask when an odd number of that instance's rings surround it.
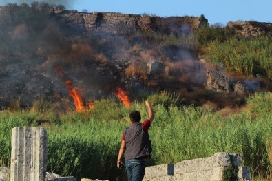
<svg viewBox="0 0 272 181">
<path fill-rule="evenodd" d="M 5 3 L 31 3 L 33 0 L 0 0 Z M 39 0 L 64 4 L 68 10 L 154 14 L 159 17 L 204 16 L 210 24 L 254 20 L 272 22 L 272 0 Z"/>
</svg>

